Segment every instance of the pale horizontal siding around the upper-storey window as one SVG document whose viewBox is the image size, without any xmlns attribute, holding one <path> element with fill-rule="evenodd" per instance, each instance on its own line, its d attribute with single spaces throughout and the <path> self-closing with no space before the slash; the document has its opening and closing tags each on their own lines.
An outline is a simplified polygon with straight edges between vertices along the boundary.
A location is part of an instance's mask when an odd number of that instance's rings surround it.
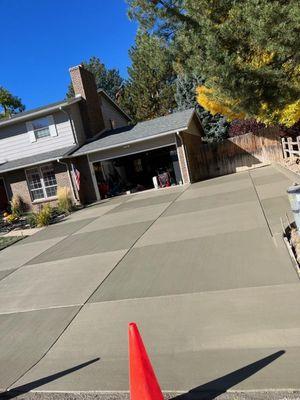
<svg viewBox="0 0 300 400">
<path fill-rule="evenodd" d="M 25 121 L 1 128 L 0 163 L 72 146 L 74 140 L 67 115 L 61 111 L 52 115 L 57 136 L 41 138 L 33 143 L 30 141 Z"/>
</svg>

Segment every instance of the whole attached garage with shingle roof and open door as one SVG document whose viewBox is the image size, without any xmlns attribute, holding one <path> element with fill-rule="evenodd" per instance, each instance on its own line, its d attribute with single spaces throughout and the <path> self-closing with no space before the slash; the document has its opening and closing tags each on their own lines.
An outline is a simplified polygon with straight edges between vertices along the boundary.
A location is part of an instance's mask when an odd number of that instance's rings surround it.
<svg viewBox="0 0 300 400">
<path fill-rule="evenodd" d="M 103 132 L 70 155 L 86 202 L 191 182 L 202 128 L 193 109 Z"/>
</svg>

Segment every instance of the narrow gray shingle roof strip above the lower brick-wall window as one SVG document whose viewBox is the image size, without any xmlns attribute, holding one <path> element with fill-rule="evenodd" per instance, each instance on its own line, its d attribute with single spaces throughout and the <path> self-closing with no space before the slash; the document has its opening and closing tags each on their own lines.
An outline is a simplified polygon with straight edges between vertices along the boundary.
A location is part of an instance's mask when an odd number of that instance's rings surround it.
<svg viewBox="0 0 300 400">
<path fill-rule="evenodd" d="M 63 147 L 61 149 L 48 151 L 47 153 L 35 154 L 34 156 L 7 161 L 0 164 L 0 173 L 30 167 L 31 165 L 36 165 L 45 161 L 53 161 L 57 158 L 63 158 L 76 148 L 77 146 Z"/>
</svg>

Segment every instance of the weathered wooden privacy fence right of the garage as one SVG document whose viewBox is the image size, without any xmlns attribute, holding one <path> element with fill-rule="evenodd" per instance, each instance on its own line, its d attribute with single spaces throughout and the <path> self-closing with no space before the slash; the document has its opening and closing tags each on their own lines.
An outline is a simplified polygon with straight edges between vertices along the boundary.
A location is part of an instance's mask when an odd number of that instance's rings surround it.
<svg viewBox="0 0 300 400">
<path fill-rule="evenodd" d="M 192 156 L 196 181 L 268 165 L 282 160 L 283 152 L 278 131 L 264 129 L 220 143 L 202 144 Z"/>
</svg>

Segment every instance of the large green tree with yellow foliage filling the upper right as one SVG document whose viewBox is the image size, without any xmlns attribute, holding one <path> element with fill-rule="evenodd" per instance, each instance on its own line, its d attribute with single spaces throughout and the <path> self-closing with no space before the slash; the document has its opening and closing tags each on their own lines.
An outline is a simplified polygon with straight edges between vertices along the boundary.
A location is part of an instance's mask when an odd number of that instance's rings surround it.
<svg viewBox="0 0 300 400">
<path fill-rule="evenodd" d="M 206 109 L 267 124 L 300 119 L 298 0 L 128 2 L 146 29 L 174 29 L 177 68 L 205 78 Z"/>
</svg>

